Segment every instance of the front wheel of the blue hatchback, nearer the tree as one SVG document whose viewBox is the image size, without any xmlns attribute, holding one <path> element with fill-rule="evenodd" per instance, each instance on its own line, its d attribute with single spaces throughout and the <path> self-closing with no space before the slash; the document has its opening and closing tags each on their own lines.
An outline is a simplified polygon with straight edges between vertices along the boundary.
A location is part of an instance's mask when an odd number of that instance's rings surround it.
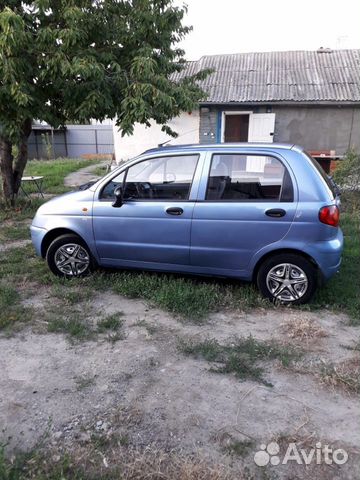
<svg viewBox="0 0 360 480">
<path fill-rule="evenodd" d="M 46 252 L 46 261 L 55 275 L 66 278 L 83 277 L 94 267 L 88 246 L 75 234 L 53 240 Z"/>
</svg>

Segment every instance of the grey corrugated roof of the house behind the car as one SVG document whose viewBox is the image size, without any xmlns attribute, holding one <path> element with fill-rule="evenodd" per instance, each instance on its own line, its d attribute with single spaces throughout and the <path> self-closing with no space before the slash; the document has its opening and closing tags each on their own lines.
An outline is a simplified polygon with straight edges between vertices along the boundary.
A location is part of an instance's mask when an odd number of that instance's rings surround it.
<svg viewBox="0 0 360 480">
<path fill-rule="evenodd" d="M 205 68 L 205 103 L 360 102 L 360 49 L 204 56 L 174 79 Z"/>
</svg>

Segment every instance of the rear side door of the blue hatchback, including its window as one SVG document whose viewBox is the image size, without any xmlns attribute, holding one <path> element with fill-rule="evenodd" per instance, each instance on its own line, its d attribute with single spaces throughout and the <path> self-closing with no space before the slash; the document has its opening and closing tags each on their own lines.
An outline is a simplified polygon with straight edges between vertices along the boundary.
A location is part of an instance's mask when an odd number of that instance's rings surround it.
<svg viewBox="0 0 360 480">
<path fill-rule="evenodd" d="M 289 166 L 279 155 L 209 152 L 191 231 L 191 265 L 247 276 L 252 256 L 288 232 L 296 211 Z"/>
</svg>

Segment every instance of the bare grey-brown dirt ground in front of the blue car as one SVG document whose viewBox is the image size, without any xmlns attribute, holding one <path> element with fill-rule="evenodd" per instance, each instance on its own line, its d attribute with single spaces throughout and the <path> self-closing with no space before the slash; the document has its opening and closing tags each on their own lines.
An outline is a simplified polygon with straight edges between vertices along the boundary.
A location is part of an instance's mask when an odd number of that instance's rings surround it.
<svg viewBox="0 0 360 480">
<path fill-rule="evenodd" d="M 104 334 L 71 342 L 42 330 L 41 312 L 49 302 L 46 289 L 39 290 L 26 300 L 38 312 L 37 324 L 0 337 L 1 437 L 10 451 L 33 447 L 45 432 L 59 451 L 86 444 L 94 434 L 116 434 L 138 448 L 155 444 L 197 453 L 234 472 L 246 467 L 254 478 L 359 478 L 359 397 L 323 384 L 314 373 L 322 363 L 358 358 L 353 347 L 360 329 L 349 326 L 345 315 L 227 311 L 190 324 L 145 302 L 106 293 L 90 300 L 92 311 L 123 312 L 123 338 L 112 343 Z M 324 336 L 291 338 L 284 323 L 303 320 Z M 301 346 L 305 356 L 291 368 L 267 362 L 269 387 L 214 373 L 207 361 L 178 349 L 179 339 L 225 342 L 250 334 Z M 330 444 L 345 449 L 349 460 L 341 466 L 256 466 L 260 445 L 274 440 L 304 448 Z M 232 445 L 244 451 L 234 453 Z"/>
</svg>

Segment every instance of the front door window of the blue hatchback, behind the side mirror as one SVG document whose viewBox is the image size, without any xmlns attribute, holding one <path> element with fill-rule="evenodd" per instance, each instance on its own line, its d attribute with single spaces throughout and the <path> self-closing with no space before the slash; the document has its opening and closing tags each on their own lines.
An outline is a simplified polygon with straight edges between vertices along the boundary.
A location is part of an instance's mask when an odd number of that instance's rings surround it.
<svg viewBox="0 0 360 480">
<path fill-rule="evenodd" d="M 124 185 L 124 200 L 187 200 L 198 155 L 177 155 L 143 160 L 113 178 L 100 199 L 113 199 Z"/>
</svg>

